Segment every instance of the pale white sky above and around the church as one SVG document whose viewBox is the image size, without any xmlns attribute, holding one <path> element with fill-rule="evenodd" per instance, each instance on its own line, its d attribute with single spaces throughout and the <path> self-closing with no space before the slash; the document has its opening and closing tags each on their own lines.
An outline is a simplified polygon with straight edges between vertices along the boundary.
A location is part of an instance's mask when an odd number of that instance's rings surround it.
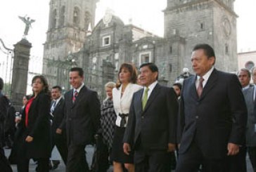
<svg viewBox="0 0 256 172">
<path fill-rule="evenodd" d="M 163 35 L 164 16 L 167 0 L 100 0 L 96 9 L 96 23 L 103 18 L 106 8 L 111 8 L 115 15 L 124 23 L 132 23 L 158 36 Z M 236 0 L 235 12 L 237 19 L 238 52 L 256 51 L 256 22 L 255 0 Z M 44 42 L 49 19 L 49 0 L 8 0 L 0 6 L 0 39 L 8 48 L 13 48 L 23 37 L 25 24 L 18 16 L 29 16 L 36 20 L 32 23 L 27 40 L 32 43 L 30 71 L 41 72 Z M 6 55 L 0 51 L 1 62 Z M 9 62 L 10 64 L 10 62 Z M 0 69 L 0 77 L 3 74 Z"/>
</svg>

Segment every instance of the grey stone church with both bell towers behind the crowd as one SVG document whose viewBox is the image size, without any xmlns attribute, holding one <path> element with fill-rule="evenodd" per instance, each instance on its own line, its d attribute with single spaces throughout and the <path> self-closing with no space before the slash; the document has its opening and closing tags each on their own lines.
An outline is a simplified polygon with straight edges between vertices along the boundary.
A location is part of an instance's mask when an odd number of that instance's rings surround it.
<svg viewBox="0 0 256 172">
<path fill-rule="evenodd" d="M 57 3 L 54 0 L 51 2 Z M 123 62 L 132 62 L 136 67 L 143 62 L 155 62 L 160 70 L 160 83 L 171 86 L 184 67 L 192 71 L 191 50 L 196 44 L 202 43 L 215 48 L 217 69 L 236 71 L 237 15 L 233 11 L 233 2 L 167 0 L 167 7 L 163 11 L 164 37 L 156 37 L 134 25 L 124 25 L 110 11 L 92 30 L 87 29 L 89 25 L 94 26 L 96 1 L 93 0 L 87 4 L 87 8 L 80 6 L 84 3 L 82 0 L 63 1 L 64 4 L 72 4 L 71 9 L 67 9 L 63 15 L 63 20 L 60 20 L 63 4 L 50 3 L 43 73 L 52 86 L 58 84 L 69 88 L 68 70 L 73 66 L 82 67 L 86 85 L 98 91 L 102 98 L 105 95 L 104 84 L 116 81 Z M 75 24 L 78 20 L 75 19 L 76 9 L 80 14 L 79 19 L 83 18 L 79 22 L 83 28 Z M 89 20 L 84 20 L 87 15 L 81 14 L 89 14 Z"/>
</svg>

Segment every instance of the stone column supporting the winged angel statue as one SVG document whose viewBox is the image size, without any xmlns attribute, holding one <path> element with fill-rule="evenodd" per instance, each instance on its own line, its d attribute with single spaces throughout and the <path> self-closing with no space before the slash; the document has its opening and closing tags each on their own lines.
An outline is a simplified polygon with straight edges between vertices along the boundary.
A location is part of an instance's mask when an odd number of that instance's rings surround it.
<svg viewBox="0 0 256 172">
<path fill-rule="evenodd" d="M 11 99 L 16 110 L 23 105 L 23 96 L 27 93 L 28 62 L 32 44 L 22 39 L 14 45 L 13 75 L 11 82 Z"/>
</svg>

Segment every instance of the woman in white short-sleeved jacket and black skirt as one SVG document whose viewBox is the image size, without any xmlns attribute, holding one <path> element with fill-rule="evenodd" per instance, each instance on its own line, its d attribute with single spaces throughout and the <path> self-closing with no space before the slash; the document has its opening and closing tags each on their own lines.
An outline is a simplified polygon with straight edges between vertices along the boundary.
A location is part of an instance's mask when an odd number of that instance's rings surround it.
<svg viewBox="0 0 256 172">
<path fill-rule="evenodd" d="M 124 154 L 122 139 L 129 118 L 132 95 L 142 88 L 136 84 L 136 79 L 137 72 L 134 65 L 123 63 L 118 72 L 116 88 L 113 88 L 113 105 L 117 115 L 112 148 L 114 172 L 122 172 L 123 165 L 129 172 L 134 171 L 133 154 L 132 152 L 129 155 Z"/>
</svg>

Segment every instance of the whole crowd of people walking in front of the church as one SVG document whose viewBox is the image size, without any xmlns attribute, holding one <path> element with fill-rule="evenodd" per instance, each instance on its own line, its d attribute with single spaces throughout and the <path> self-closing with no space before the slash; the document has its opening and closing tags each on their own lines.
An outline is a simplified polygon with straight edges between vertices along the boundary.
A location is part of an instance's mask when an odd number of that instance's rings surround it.
<svg viewBox="0 0 256 172">
<path fill-rule="evenodd" d="M 158 83 L 158 67 L 123 63 L 117 81 L 105 84 L 106 98 L 84 83 L 84 71 L 69 72 L 72 89 L 62 95 L 60 86 L 44 76 L 32 79 L 33 94 L 13 111 L 0 92 L 0 167 L 29 171 L 58 168 L 54 149 L 67 172 L 243 172 L 248 152 L 256 171 L 256 87 L 251 72 L 238 75 L 215 68 L 215 51 L 207 44 L 193 48 L 195 75 L 172 87 Z M 256 69 L 252 69 L 256 83 Z M 0 79 L 0 91 L 4 81 Z M 8 122 L 7 122 L 8 121 Z M 8 125 L 7 125 L 8 124 Z M 14 126 L 14 128 L 5 128 Z M 6 140 L 11 138 L 9 143 Z M 9 145 L 8 145 L 8 144 Z M 97 144 L 92 166 L 85 147 Z M 12 147 L 8 159 L 4 146 Z M 51 157 L 51 159 L 50 159 Z"/>
</svg>

